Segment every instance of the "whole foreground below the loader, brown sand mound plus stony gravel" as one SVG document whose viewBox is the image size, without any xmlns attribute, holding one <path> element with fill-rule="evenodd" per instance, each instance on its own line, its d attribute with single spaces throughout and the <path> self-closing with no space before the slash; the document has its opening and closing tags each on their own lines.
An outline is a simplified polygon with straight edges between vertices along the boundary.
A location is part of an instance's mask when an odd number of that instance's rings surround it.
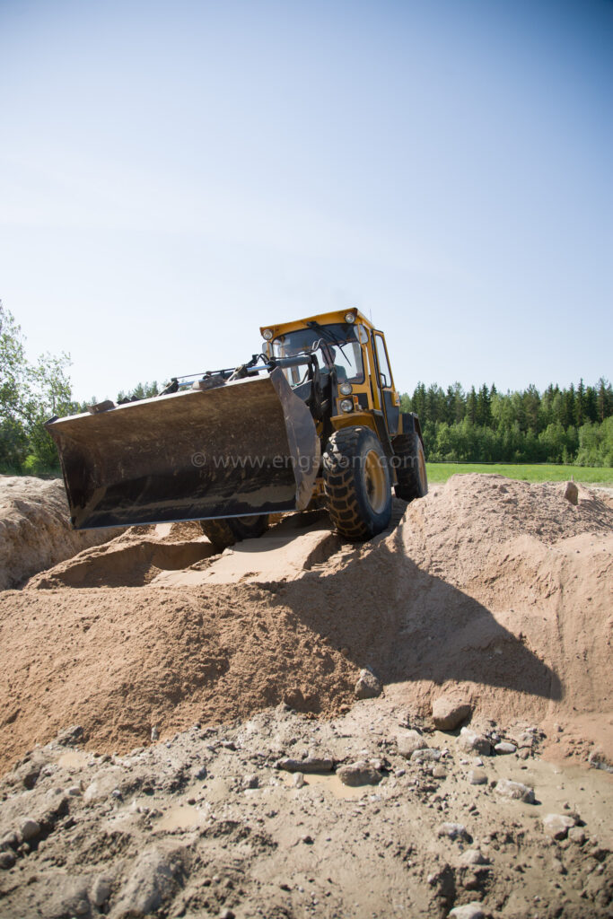
<svg viewBox="0 0 613 919">
<path fill-rule="evenodd" d="M 613 512 L 564 492 L 133 528 L 0 593 L 0 916 L 610 915 Z"/>
</svg>

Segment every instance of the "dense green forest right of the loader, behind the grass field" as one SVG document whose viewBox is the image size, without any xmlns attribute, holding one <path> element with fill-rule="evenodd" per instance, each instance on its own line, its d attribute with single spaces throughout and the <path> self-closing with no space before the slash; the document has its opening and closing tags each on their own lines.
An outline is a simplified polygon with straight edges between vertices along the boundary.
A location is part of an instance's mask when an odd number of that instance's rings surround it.
<svg viewBox="0 0 613 919">
<path fill-rule="evenodd" d="M 604 377 L 568 389 L 551 383 L 543 392 L 419 382 L 401 403 L 419 415 L 430 461 L 613 466 L 613 391 Z"/>
</svg>

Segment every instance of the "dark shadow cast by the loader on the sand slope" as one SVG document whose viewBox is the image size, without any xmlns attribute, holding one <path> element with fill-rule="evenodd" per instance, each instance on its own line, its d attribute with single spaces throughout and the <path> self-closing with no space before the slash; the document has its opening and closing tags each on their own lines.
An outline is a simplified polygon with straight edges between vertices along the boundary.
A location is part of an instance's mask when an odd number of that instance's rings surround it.
<svg viewBox="0 0 613 919">
<path fill-rule="evenodd" d="M 284 585 L 272 602 L 387 684 L 456 680 L 563 695 L 558 676 L 528 649 L 529 636 L 514 635 L 481 603 L 419 568 L 399 530 L 341 571 Z"/>
</svg>

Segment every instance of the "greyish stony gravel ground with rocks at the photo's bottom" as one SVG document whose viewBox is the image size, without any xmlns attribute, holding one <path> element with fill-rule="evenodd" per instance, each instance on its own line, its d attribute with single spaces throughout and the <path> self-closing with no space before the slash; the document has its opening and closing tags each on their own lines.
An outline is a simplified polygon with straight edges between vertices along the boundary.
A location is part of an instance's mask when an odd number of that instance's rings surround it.
<svg viewBox="0 0 613 919">
<path fill-rule="evenodd" d="M 0 916 L 604 919 L 613 777 L 542 759 L 543 740 L 441 732 L 386 698 L 124 756 L 69 730 L 0 787 Z"/>
</svg>

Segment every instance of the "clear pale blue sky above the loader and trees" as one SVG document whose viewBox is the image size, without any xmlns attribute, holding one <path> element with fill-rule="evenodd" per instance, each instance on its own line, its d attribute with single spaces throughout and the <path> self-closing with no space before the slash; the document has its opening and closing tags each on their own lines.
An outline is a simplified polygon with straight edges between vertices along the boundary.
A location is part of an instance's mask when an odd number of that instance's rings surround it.
<svg viewBox="0 0 613 919">
<path fill-rule="evenodd" d="M 0 299 L 74 396 L 358 307 L 401 391 L 613 377 L 611 0 L 0 0 Z"/>
</svg>

